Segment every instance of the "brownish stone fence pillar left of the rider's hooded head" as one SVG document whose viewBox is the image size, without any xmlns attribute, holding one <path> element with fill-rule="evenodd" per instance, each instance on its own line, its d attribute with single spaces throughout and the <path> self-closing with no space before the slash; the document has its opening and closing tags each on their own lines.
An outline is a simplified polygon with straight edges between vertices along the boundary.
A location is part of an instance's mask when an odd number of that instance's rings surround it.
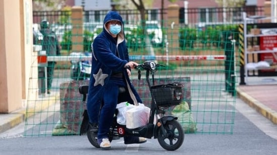
<svg viewBox="0 0 277 155">
<path fill-rule="evenodd" d="M 72 52 L 83 52 L 83 8 L 72 7 Z"/>
</svg>

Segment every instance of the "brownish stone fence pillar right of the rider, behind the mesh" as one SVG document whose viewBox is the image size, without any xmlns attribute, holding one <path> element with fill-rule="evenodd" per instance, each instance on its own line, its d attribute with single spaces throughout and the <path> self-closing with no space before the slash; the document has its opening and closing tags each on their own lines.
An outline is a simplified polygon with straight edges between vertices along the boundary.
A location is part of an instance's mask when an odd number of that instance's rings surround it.
<svg viewBox="0 0 277 155">
<path fill-rule="evenodd" d="M 178 55 L 179 53 L 179 6 L 169 5 L 167 20 L 169 40 L 169 54 Z"/>
</svg>

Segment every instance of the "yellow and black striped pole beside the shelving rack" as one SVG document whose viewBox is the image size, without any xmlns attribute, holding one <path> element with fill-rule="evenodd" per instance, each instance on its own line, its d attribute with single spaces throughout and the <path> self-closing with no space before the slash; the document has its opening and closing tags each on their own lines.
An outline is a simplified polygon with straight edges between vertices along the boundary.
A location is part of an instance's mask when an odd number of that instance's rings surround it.
<svg viewBox="0 0 277 155">
<path fill-rule="evenodd" d="M 239 56 L 240 56 L 240 85 L 245 85 L 245 81 L 244 81 L 244 65 L 245 65 L 245 61 L 244 61 L 244 25 L 243 24 L 239 24 Z"/>
</svg>

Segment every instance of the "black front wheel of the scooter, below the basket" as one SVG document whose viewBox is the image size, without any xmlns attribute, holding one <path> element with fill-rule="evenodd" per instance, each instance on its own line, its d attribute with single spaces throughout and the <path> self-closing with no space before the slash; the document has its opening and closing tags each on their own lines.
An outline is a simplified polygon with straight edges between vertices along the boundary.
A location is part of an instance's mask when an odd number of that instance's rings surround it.
<svg viewBox="0 0 277 155">
<path fill-rule="evenodd" d="M 163 134 L 163 131 L 164 133 Z M 184 141 L 185 135 L 181 124 L 173 119 L 163 124 L 163 127 L 158 129 L 158 142 L 162 148 L 167 150 L 178 149 Z"/>
</svg>

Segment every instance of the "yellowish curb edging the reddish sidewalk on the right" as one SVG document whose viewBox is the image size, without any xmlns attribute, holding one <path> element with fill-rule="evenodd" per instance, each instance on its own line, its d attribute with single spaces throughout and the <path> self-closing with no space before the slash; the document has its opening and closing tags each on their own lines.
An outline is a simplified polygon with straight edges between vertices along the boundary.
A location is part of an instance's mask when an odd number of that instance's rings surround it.
<svg viewBox="0 0 277 155">
<path fill-rule="evenodd" d="M 250 107 L 254 108 L 261 115 L 269 119 L 272 123 L 277 124 L 277 112 L 268 108 L 267 106 L 260 103 L 258 100 L 253 97 L 247 95 L 247 93 L 243 92 L 240 88 L 237 88 L 237 97 L 242 99 L 246 104 Z"/>
</svg>

